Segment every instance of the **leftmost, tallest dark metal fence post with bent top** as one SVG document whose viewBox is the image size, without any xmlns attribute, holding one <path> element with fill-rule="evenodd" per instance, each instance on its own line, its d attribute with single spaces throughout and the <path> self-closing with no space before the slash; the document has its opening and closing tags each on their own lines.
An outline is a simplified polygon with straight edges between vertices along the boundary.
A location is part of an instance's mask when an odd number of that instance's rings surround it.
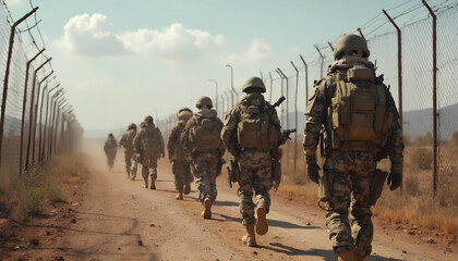
<svg viewBox="0 0 458 261">
<path fill-rule="evenodd" d="M 16 26 L 24 22 L 28 16 L 35 13 L 38 8 L 34 8 L 31 12 L 26 15 L 22 16 L 17 20 L 13 26 L 11 26 L 10 32 L 10 44 L 8 47 L 8 58 L 7 58 L 7 66 L 4 71 L 4 80 L 3 80 L 3 96 L 1 99 L 1 115 L 0 115 L 0 166 L 1 166 L 1 151 L 3 148 L 3 130 L 4 130 L 4 111 L 7 110 L 7 97 L 8 97 L 8 84 L 10 80 L 10 67 L 11 67 L 11 57 L 13 55 L 13 47 L 14 47 L 14 36 L 16 32 Z"/>
</svg>

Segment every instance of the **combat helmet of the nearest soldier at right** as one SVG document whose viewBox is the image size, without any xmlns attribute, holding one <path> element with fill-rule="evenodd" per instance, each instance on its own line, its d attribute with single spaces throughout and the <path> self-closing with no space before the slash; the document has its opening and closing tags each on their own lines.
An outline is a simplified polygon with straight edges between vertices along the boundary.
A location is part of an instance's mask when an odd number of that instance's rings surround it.
<svg viewBox="0 0 458 261">
<path fill-rule="evenodd" d="M 351 51 L 361 51 L 363 58 L 369 58 L 371 52 L 367 48 L 367 42 L 359 35 L 343 35 L 341 36 L 334 48 L 334 60 L 339 60 L 343 54 Z"/>
</svg>

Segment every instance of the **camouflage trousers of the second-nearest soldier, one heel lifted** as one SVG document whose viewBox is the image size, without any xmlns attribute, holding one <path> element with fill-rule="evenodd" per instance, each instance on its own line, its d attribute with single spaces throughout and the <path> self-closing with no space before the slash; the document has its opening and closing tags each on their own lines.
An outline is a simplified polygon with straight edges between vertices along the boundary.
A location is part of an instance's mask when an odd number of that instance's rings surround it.
<svg viewBox="0 0 458 261">
<path fill-rule="evenodd" d="M 254 208 L 263 206 L 267 213 L 270 208 L 272 161 L 270 152 L 245 149 L 238 158 L 240 165 L 239 196 L 242 224 L 254 224 Z M 254 202 L 253 202 L 254 189 Z"/>
</svg>

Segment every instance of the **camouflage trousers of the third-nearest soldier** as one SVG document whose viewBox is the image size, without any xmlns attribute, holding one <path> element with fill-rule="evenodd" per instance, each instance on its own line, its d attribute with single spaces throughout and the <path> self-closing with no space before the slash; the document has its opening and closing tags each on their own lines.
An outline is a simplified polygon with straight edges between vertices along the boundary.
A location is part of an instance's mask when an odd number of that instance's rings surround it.
<svg viewBox="0 0 458 261">
<path fill-rule="evenodd" d="M 203 201 L 209 198 L 215 201 L 218 191 L 216 190 L 216 176 L 218 173 L 219 156 L 217 152 L 197 152 L 194 156 L 193 172 L 195 185 L 198 189 L 198 199 Z"/>
</svg>

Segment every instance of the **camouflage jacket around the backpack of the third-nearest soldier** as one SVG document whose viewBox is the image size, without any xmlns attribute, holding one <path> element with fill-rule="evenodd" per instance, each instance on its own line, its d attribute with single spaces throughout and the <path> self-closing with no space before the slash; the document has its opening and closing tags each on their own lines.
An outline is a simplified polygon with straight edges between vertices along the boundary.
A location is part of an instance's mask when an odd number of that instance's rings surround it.
<svg viewBox="0 0 458 261">
<path fill-rule="evenodd" d="M 181 133 L 181 137 L 180 137 L 181 144 L 183 146 L 184 153 L 186 153 L 186 154 L 193 154 L 194 153 L 195 148 L 194 148 L 194 144 L 191 142 L 191 140 L 190 140 L 190 138 L 191 138 L 190 137 L 190 135 L 191 135 L 190 132 L 191 132 L 192 128 L 197 127 L 197 122 L 198 122 L 200 119 L 215 119 L 216 120 L 216 125 L 217 125 L 217 128 L 218 128 L 218 133 L 220 133 L 221 129 L 222 129 L 222 122 L 221 122 L 221 120 L 219 120 L 219 117 L 216 116 L 216 111 L 215 110 L 208 110 L 208 111 L 202 110 L 202 111 L 198 111 L 198 112 L 194 113 L 194 116 L 192 116 L 188 121 L 186 125 L 184 126 L 183 132 Z M 219 139 L 219 145 L 218 145 L 218 152 L 219 152 L 219 157 L 222 157 L 226 152 L 226 148 L 225 148 L 225 146 L 224 146 L 224 144 L 220 139 Z"/>
</svg>

